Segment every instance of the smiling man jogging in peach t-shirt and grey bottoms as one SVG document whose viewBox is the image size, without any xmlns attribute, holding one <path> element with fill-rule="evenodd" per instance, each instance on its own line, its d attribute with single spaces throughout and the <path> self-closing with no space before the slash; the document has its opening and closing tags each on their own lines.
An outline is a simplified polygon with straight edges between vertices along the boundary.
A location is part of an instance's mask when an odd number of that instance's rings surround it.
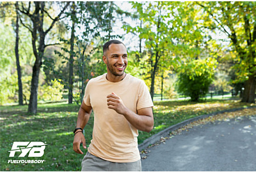
<svg viewBox="0 0 256 172">
<path fill-rule="evenodd" d="M 142 80 L 125 73 L 127 50 L 118 40 L 103 46 L 108 73 L 90 80 L 78 112 L 73 149 L 86 148 L 83 128 L 94 111 L 93 139 L 82 171 L 141 171 L 138 130 L 154 126 L 152 99 Z"/>
</svg>

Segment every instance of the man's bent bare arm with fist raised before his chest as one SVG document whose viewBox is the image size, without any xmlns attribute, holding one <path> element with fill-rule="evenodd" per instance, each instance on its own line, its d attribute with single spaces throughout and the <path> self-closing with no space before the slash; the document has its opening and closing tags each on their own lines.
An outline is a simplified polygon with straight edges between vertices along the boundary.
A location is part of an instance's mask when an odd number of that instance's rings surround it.
<svg viewBox="0 0 256 172">
<path fill-rule="evenodd" d="M 138 114 L 125 107 L 122 99 L 114 92 L 107 96 L 108 108 L 115 110 L 117 113 L 124 115 L 124 117 L 140 131 L 150 132 L 154 127 L 154 117 L 152 107 L 142 108 L 138 110 Z"/>
</svg>

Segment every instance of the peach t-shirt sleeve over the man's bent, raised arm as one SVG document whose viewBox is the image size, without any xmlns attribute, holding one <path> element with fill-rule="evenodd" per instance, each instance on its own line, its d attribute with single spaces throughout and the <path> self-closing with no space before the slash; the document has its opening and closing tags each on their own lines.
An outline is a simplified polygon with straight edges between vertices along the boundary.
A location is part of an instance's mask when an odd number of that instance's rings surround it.
<svg viewBox="0 0 256 172">
<path fill-rule="evenodd" d="M 137 110 L 142 108 L 149 108 L 153 107 L 154 104 L 152 102 L 150 93 L 148 91 L 148 87 L 145 82 L 141 82 L 140 89 L 138 92 L 138 103 L 137 103 Z"/>
</svg>

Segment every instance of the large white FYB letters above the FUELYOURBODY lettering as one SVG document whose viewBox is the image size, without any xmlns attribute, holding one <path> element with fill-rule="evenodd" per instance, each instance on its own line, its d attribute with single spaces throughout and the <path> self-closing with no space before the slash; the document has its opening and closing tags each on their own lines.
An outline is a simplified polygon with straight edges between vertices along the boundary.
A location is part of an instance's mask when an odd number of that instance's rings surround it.
<svg viewBox="0 0 256 172">
<path fill-rule="evenodd" d="M 28 154 L 29 157 L 42 157 L 44 155 L 45 144 L 42 141 L 14 141 L 12 145 L 12 150 L 10 152 L 9 157 L 14 157 L 15 152 L 21 152 L 19 157 L 24 157 Z M 26 147 L 19 147 L 26 146 Z"/>
</svg>

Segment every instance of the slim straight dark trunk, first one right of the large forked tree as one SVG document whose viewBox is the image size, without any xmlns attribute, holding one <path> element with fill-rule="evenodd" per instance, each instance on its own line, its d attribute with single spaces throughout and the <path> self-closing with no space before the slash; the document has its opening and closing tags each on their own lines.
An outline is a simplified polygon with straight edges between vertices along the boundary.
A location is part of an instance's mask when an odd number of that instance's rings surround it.
<svg viewBox="0 0 256 172">
<path fill-rule="evenodd" d="M 72 29 L 71 29 L 71 38 L 70 38 L 70 58 L 69 58 L 68 104 L 72 104 L 72 100 L 73 100 L 74 38 L 75 38 L 75 21 L 72 20 Z"/>
</svg>

